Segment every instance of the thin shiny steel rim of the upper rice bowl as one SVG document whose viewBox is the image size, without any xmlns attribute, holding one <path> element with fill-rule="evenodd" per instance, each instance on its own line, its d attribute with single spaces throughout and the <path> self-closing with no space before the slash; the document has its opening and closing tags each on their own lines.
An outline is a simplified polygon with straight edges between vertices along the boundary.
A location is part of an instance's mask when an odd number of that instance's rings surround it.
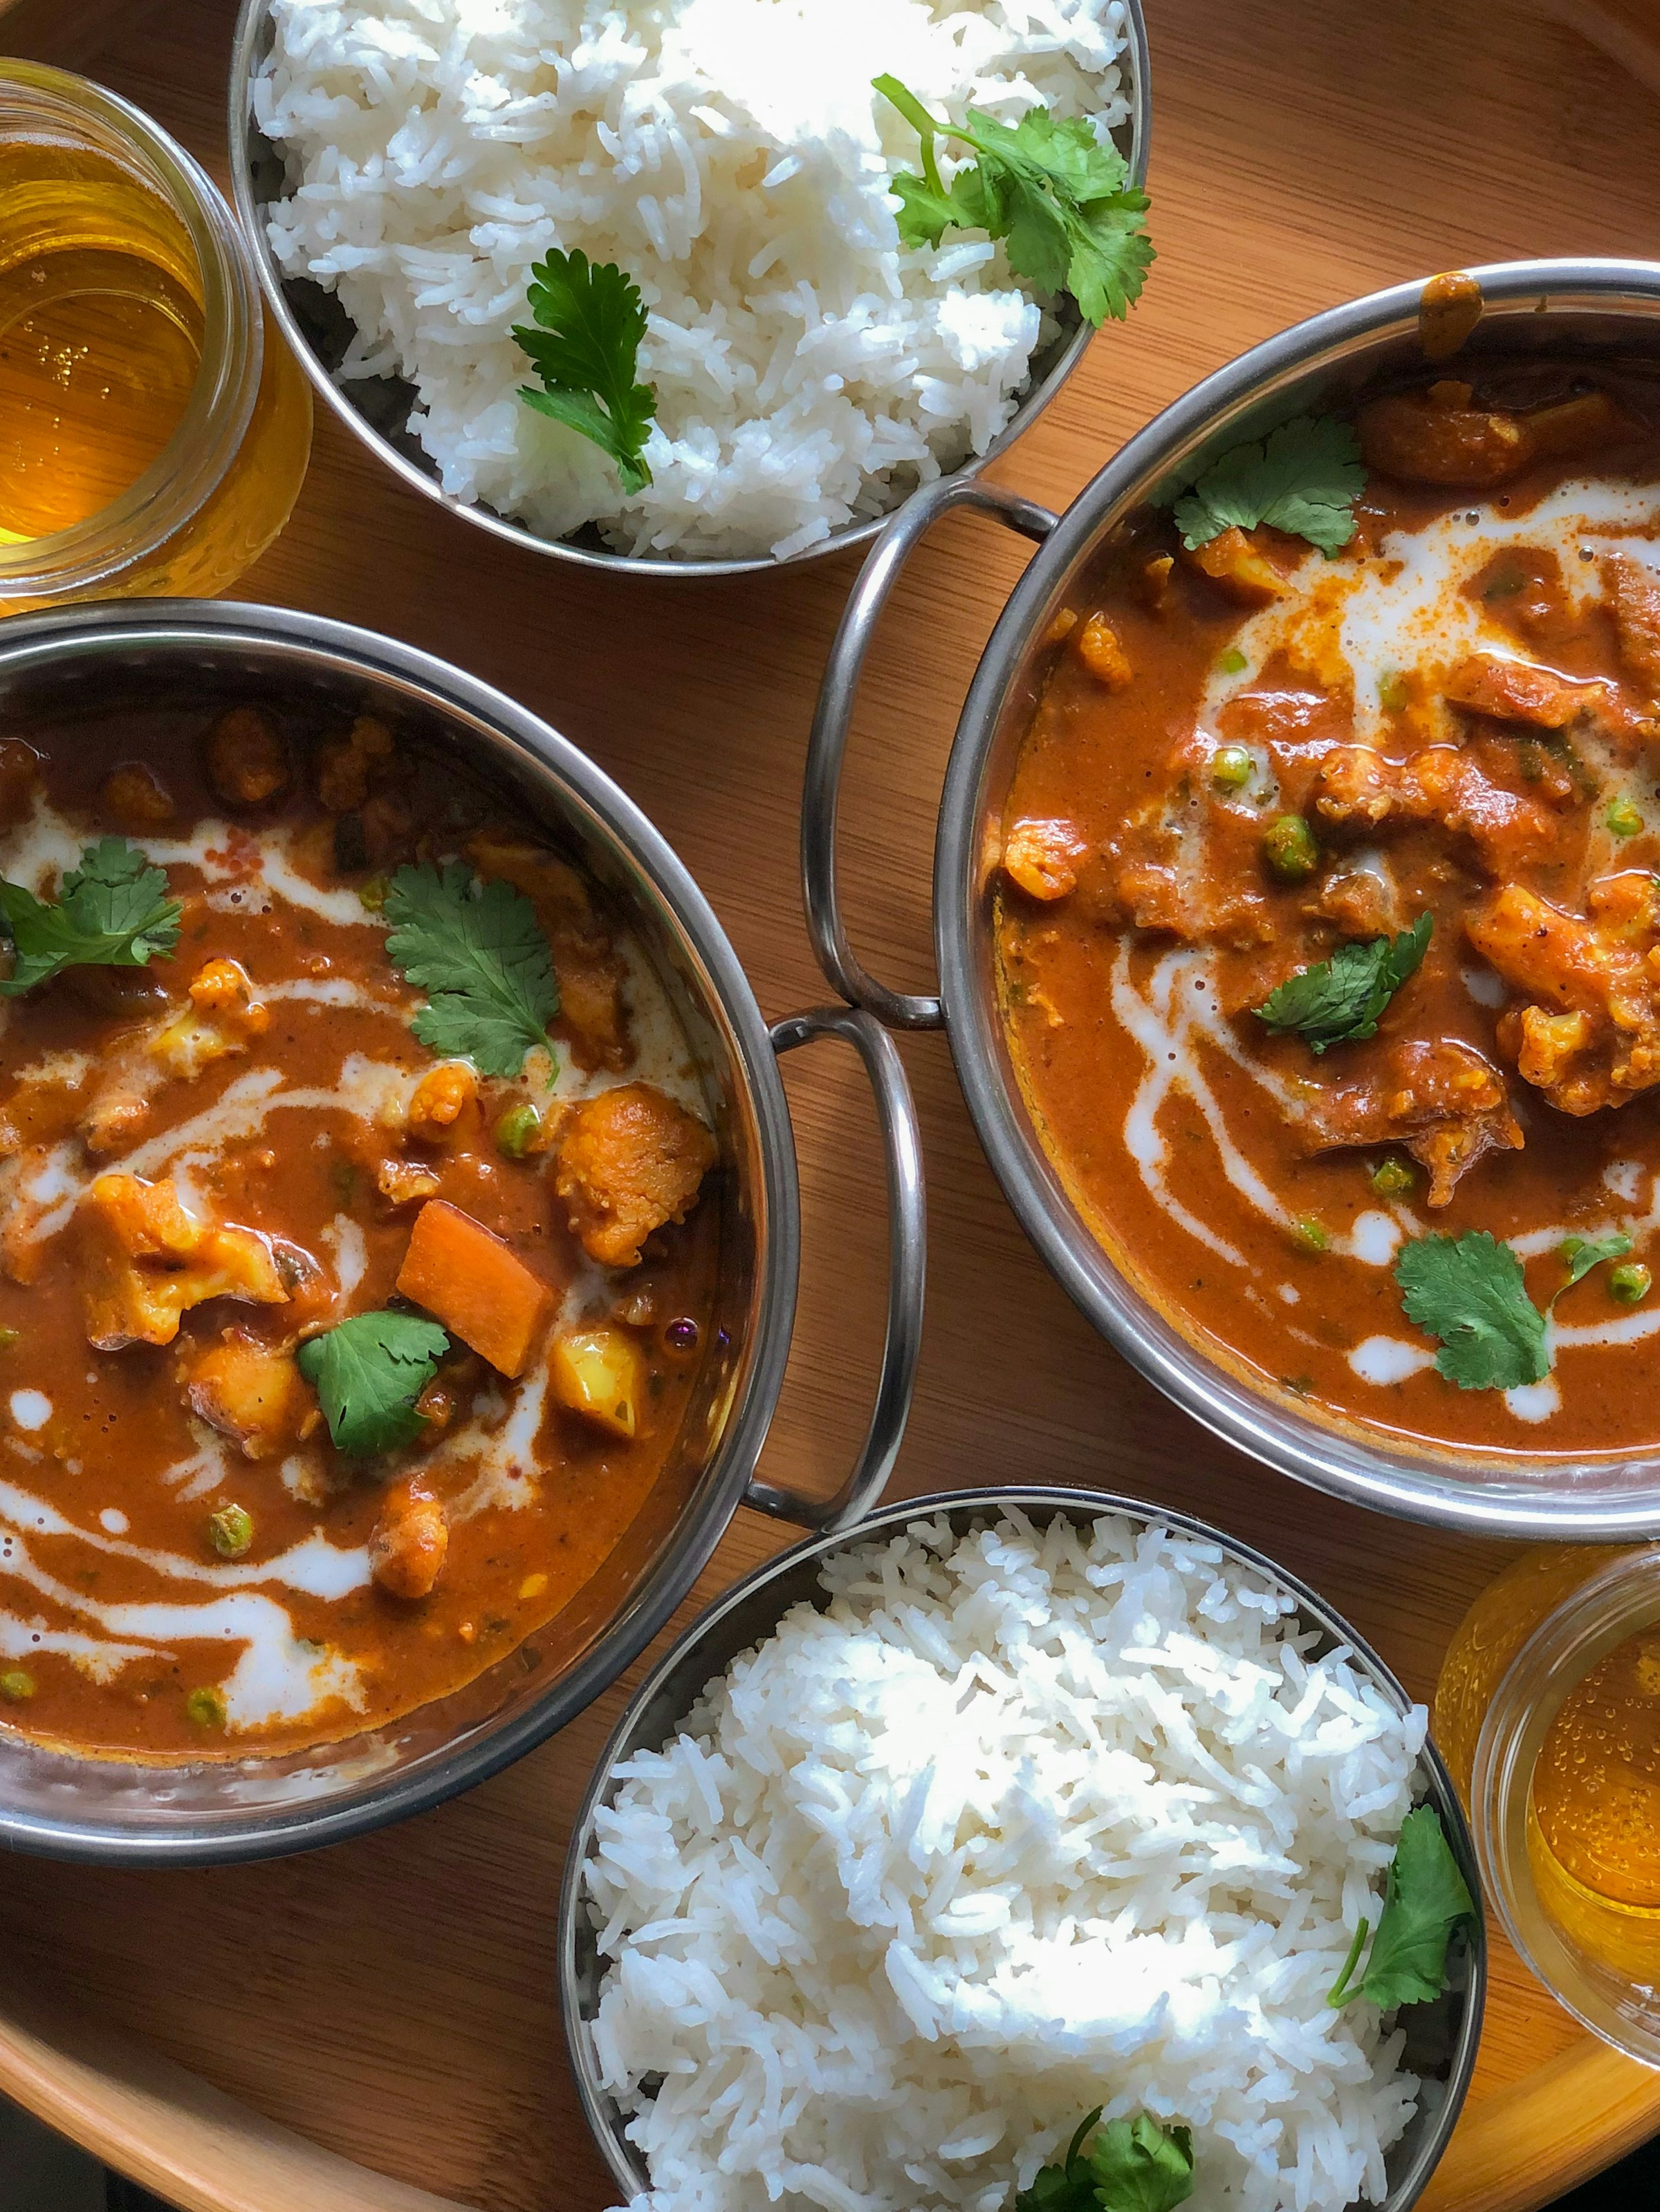
<svg viewBox="0 0 1660 2212">
<path fill-rule="evenodd" d="M 868 546 L 879 531 L 896 515 L 901 509 L 910 507 L 921 491 L 930 489 L 919 484 L 907 491 L 896 507 L 890 507 L 881 515 L 872 515 L 863 522 L 850 522 L 839 531 L 830 531 L 817 544 L 803 546 L 799 553 L 786 555 L 786 560 L 775 560 L 770 553 L 746 555 L 746 557 L 691 557 L 679 560 L 671 553 L 611 553 L 602 546 L 580 546 L 569 538 L 542 538 L 531 531 L 525 522 L 513 522 L 509 515 L 496 513 L 494 507 L 483 507 L 476 500 L 460 500 L 445 491 L 436 476 L 401 453 L 372 422 L 367 422 L 359 409 L 350 403 L 341 385 L 330 376 L 330 372 L 319 361 L 310 338 L 299 325 L 299 316 L 288 299 L 283 272 L 277 268 L 277 257 L 266 234 L 263 204 L 255 192 L 250 139 L 259 135 L 261 144 L 270 144 L 252 117 L 252 80 L 259 66 L 259 46 L 270 22 L 274 0 L 241 0 L 241 11 L 237 18 L 237 33 L 230 55 L 230 86 L 228 86 L 228 139 L 230 139 L 230 197 L 237 210 L 237 221 L 241 226 L 243 239 L 259 272 L 259 290 L 263 292 L 266 307 L 294 352 L 301 369 L 312 383 L 317 396 L 332 409 L 336 420 L 341 420 L 387 469 L 394 471 L 412 491 L 447 509 L 447 513 L 458 515 L 463 522 L 471 522 L 478 529 L 489 531 L 505 544 L 522 546 L 531 553 L 544 553 L 553 560 L 569 560 L 582 568 L 598 568 L 613 575 L 635 575 L 635 577 L 691 577 L 691 580 L 713 580 L 733 575 L 770 575 L 786 568 L 797 568 L 803 562 L 826 560 L 834 553 L 850 553 L 859 546 Z M 1127 75 L 1124 97 L 1129 100 L 1129 117 L 1120 126 L 1120 135 L 1129 133 L 1129 181 L 1135 186 L 1147 184 L 1147 159 L 1151 150 L 1151 49 L 1147 38 L 1147 15 L 1142 0 L 1118 0 L 1124 13 L 1124 51 L 1118 58 L 1120 71 Z M 1076 307 L 1073 307 L 1076 314 Z M 1065 345 L 1056 352 L 1054 361 L 1045 374 L 1029 385 L 1020 405 L 1016 407 L 1009 422 L 992 440 L 985 453 L 972 453 L 961 467 L 943 471 L 934 482 L 963 482 L 978 476 L 989 462 L 1014 445 L 1014 440 L 1027 431 L 1038 416 L 1045 411 L 1049 400 L 1060 392 L 1071 372 L 1082 361 L 1089 349 L 1096 330 L 1076 316 L 1076 327 L 1067 336 Z"/>
</svg>

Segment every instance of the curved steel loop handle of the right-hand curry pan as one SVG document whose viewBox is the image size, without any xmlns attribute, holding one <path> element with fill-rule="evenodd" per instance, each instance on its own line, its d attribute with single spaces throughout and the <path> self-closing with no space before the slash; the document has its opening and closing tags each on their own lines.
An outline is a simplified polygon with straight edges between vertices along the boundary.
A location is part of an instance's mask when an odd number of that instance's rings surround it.
<svg viewBox="0 0 1660 2212">
<path fill-rule="evenodd" d="M 876 982 L 848 942 L 841 900 L 837 896 L 841 763 L 848 754 L 848 728 L 852 726 L 859 677 L 888 593 L 899 582 L 899 571 L 910 560 L 916 542 L 952 507 L 976 507 L 983 515 L 994 515 L 1007 529 L 1020 531 L 1023 538 L 1031 538 L 1038 544 L 1058 522 L 1058 515 L 1051 515 L 1047 507 L 1036 507 L 1031 500 L 1023 500 L 1016 491 L 1003 491 L 998 484 L 983 484 L 978 478 L 943 476 L 927 491 L 905 500 L 870 549 L 841 615 L 841 628 L 830 648 L 830 661 L 819 688 L 819 706 L 812 714 L 808 776 L 801 792 L 801 889 L 808 905 L 812 949 L 837 991 L 852 1000 L 854 1006 L 874 1013 L 888 1029 L 938 1029 L 945 1015 L 938 998 L 890 991 L 885 982 Z"/>
</svg>

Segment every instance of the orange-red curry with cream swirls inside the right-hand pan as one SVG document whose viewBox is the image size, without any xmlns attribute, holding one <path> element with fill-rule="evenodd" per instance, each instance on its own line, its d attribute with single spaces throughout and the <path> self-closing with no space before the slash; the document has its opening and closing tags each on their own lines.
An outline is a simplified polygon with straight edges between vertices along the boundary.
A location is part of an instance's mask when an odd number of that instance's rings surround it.
<svg viewBox="0 0 1660 2212">
<path fill-rule="evenodd" d="M 1268 1394 L 1653 1449 L 1660 380 L 1454 363 L 1339 431 L 1335 553 L 1149 511 L 1051 624 L 996 887 L 1018 1079 L 1102 1245 Z M 1454 1241 L 1483 1310 L 1410 1318 L 1403 1254 Z"/>
</svg>

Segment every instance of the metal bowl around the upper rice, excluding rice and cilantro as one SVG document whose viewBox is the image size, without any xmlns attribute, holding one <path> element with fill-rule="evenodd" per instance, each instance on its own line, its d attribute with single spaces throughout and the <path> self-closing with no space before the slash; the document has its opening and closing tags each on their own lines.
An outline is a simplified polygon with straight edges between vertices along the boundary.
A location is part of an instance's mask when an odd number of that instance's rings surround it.
<svg viewBox="0 0 1660 2212">
<path fill-rule="evenodd" d="M 1127 77 L 1124 91 L 1131 113 L 1127 124 L 1113 135 L 1120 153 L 1129 161 L 1131 179 L 1140 186 L 1147 181 L 1151 122 L 1147 22 L 1142 18 L 1142 0 L 1120 0 L 1120 4 L 1124 9 L 1124 55 L 1118 66 Z M 843 529 L 832 531 L 803 553 L 792 553 L 788 562 L 777 562 L 770 555 L 759 555 L 755 560 L 679 560 L 668 553 L 613 553 L 593 526 L 578 531 L 571 538 L 538 538 L 536 531 L 527 529 L 522 522 L 513 522 L 509 515 L 496 513 L 491 507 L 452 498 L 438 482 L 434 460 L 409 431 L 409 414 L 416 405 L 414 385 L 396 376 L 352 378 L 350 383 L 341 383 L 336 378 L 336 369 L 352 341 L 350 316 L 341 307 L 339 299 L 332 292 L 325 292 L 323 285 L 303 276 L 286 276 L 270 250 L 266 208 L 270 208 L 272 201 L 281 199 L 288 190 L 283 153 L 261 133 L 252 111 L 252 80 L 270 53 L 270 9 L 272 0 L 243 0 L 230 60 L 230 181 L 237 215 L 241 217 L 241 226 L 248 234 L 248 243 L 259 268 L 259 283 L 263 285 L 270 312 L 288 343 L 299 354 L 319 398 L 332 407 L 341 422 L 345 422 L 345 427 L 354 431 L 363 445 L 367 445 L 370 451 L 387 465 L 387 469 L 401 476 L 412 491 L 421 491 L 425 498 L 436 500 L 438 507 L 449 509 L 452 515 L 460 515 L 465 522 L 476 522 L 494 538 L 507 540 L 507 544 L 525 546 L 531 553 L 551 553 L 556 560 L 573 560 L 587 568 L 606 568 L 613 575 L 757 575 L 768 568 L 786 568 L 797 562 L 823 560 L 830 553 L 845 553 L 852 546 L 870 544 L 876 531 L 881 531 L 888 522 L 888 515 L 874 515 L 865 522 L 848 522 Z M 981 469 L 1003 453 L 1023 429 L 1029 429 L 1029 425 L 1038 420 L 1042 409 L 1078 367 L 1093 336 L 1089 323 L 1082 321 L 1073 301 L 1065 296 L 1056 307 L 1054 321 L 1058 325 L 1056 336 L 1034 354 L 1027 392 L 1016 407 L 1009 427 L 987 447 L 985 453 L 976 453 L 965 460 L 947 478 L 941 478 L 941 482 L 958 484 L 978 476 Z M 910 504 L 914 498 L 916 493 L 907 493 L 907 498 L 890 509 L 890 513 L 899 513 L 899 507 Z"/>
</svg>

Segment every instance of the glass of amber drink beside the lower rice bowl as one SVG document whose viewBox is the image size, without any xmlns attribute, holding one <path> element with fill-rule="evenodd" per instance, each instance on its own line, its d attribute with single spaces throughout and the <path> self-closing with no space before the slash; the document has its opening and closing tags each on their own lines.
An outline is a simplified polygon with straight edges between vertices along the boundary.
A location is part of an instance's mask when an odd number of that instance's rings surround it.
<svg viewBox="0 0 1660 2212">
<path fill-rule="evenodd" d="M 1660 1544 L 1527 1553 L 1459 1626 L 1434 1732 L 1516 1951 L 1660 2066 Z"/>
</svg>

